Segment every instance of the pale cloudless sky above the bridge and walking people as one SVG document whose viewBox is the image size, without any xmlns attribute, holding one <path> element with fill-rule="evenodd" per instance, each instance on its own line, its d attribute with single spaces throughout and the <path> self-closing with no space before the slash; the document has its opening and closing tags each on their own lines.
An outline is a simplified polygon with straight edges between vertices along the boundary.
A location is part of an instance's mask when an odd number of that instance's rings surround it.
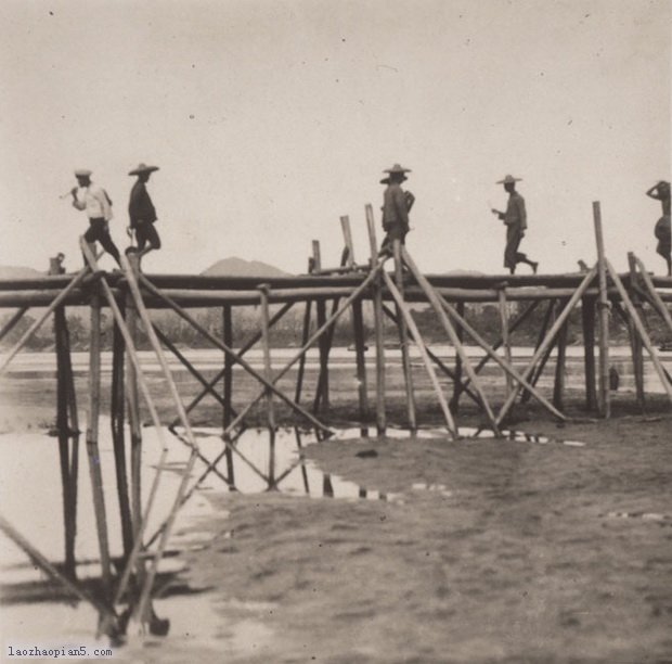
<svg viewBox="0 0 672 664">
<path fill-rule="evenodd" d="M 670 0 L 2 0 L 0 20 L 0 265 L 79 266 L 75 168 L 126 246 L 140 162 L 160 166 L 146 271 L 299 272 L 313 239 L 334 266 L 340 215 L 364 261 L 399 162 L 427 272 L 504 271 L 508 173 L 541 271 L 595 260 L 595 200 L 611 261 L 663 271 L 644 192 L 670 180 Z"/>
</svg>

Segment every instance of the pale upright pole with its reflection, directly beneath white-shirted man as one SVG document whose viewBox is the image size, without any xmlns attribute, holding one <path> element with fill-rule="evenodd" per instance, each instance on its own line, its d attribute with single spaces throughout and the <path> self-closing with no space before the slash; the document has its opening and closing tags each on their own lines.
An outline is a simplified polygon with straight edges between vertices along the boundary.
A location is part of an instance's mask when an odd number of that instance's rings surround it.
<svg viewBox="0 0 672 664">
<path fill-rule="evenodd" d="M 109 542 L 107 540 L 107 519 L 103 496 L 103 475 L 101 455 L 98 445 L 99 416 L 101 406 L 101 298 L 96 293 L 91 297 L 91 341 L 89 344 L 89 422 L 87 426 L 87 452 L 95 511 L 95 527 L 101 553 L 103 589 L 107 596 L 112 590 Z"/>
</svg>

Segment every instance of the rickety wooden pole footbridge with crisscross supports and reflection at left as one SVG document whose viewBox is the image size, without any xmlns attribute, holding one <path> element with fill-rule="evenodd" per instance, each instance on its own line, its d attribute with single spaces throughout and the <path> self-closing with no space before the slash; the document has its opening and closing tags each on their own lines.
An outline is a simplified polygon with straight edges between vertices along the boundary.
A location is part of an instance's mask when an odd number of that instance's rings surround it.
<svg viewBox="0 0 672 664">
<path fill-rule="evenodd" d="M 657 348 L 647 331 L 645 309 L 659 316 L 672 333 L 669 303 L 672 299 L 672 278 L 650 276 L 643 264 L 629 256 L 630 271 L 617 273 L 605 256 L 602 241 L 599 206 L 594 205 L 594 222 L 597 238 L 597 263 L 584 273 L 533 274 L 533 276 L 425 276 L 404 246 L 398 242 L 391 256 L 379 255 L 373 226 L 373 210 L 366 208 L 370 233 L 370 258 L 358 264 L 354 258 L 349 220 L 341 218 L 345 250 L 340 265 L 323 268 L 319 243 L 313 243 L 309 273 L 298 277 L 264 279 L 198 277 L 198 276 L 146 276 L 142 273 L 133 256 L 124 260 L 124 271 L 105 273 L 100 270 L 96 257 L 86 243 L 82 252 L 87 267 L 75 276 L 50 274 L 40 279 L 7 280 L 0 282 L 0 307 L 18 307 L 18 310 L 0 330 L 5 336 L 22 319 L 29 307 L 46 307 L 37 320 L 25 331 L 10 349 L 0 367 L 3 372 L 13 357 L 25 346 L 31 335 L 51 316 L 54 319 L 57 365 L 56 430 L 59 434 L 60 467 L 63 484 L 63 516 L 65 528 L 65 560 L 55 566 L 37 550 L 5 519 L 0 521 L 3 532 L 10 536 L 31 560 L 82 600 L 92 603 L 101 613 L 102 629 L 108 634 L 124 631 L 125 620 L 130 617 L 142 624 L 163 629 L 152 612 L 151 598 L 155 587 L 158 563 L 166 551 L 175 518 L 195 490 L 194 473 L 203 465 L 195 482 L 215 476 L 229 486 L 235 486 L 234 458 L 244 458 L 240 439 L 247 429 L 246 419 L 257 404 L 263 405 L 271 445 L 277 431 L 279 400 L 290 411 L 321 431 L 324 437 L 332 433 L 328 425 L 329 411 L 329 352 L 336 322 L 346 314 L 351 315 L 352 340 L 357 368 L 357 420 L 363 434 L 374 427 L 382 435 L 388 427 L 386 407 L 386 339 L 385 319 L 392 321 L 399 339 L 404 374 L 405 422 L 415 432 L 416 414 L 411 345 L 426 371 L 449 437 L 457 437 L 455 418 L 460 403 L 470 399 L 482 413 L 488 426 L 499 434 L 511 417 L 516 404 L 530 398 L 554 418 L 566 420 L 564 412 L 565 363 L 568 344 L 568 324 L 571 312 L 581 311 L 585 405 L 598 416 L 610 413 L 609 375 L 609 318 L 619 316 L 628 325 L 635 373 L 636 399 L 645 407 L 644 349 L 649 354 L 660 382 L 672 401 L 672 380 L 663 366 Z M 386 264 L 393 258 L 393 272 L 388 273 Z M 57 270 L 54 270 L 57 271 Z M 495 303 L 499 311 L 499 339 L 489 344 L 482 331 L 476 330 L 466 319 L 470 303 Z M 373 310 L 371 336 L 375 345 L 375 405 L 367 394 L 365 330 L 363 305 Z M 438 357 L 425 343 L 418 329 L 414 303 L 428 305 L 434 312 L 436 325 L 441 329 L 448 343 L 454 348 L 454 362 L 450 366 Z M 516 303 L 515 311 L 513 304 Z M 236 307 L 259 306 L 259 330 L 245 344 L 234 349 L 232 330 Z M 303 325 L 300 347 L 279 371 L 273 370 L 271 333 L 273 325 L 297 304 L 303 308 Z M 101 591 L 92 595 L 78 584 L 74 557 L 77 525 L 77 476 L 79 464 L 79 420 L 76 403 L 69 333 L 65 311 L 68 306 L 88 306 L 91 312 L 89 345 L 89 405 L 86 448 L 92 486 L 92 499 L 96 515 L 96 534 L 101 561 Z M 277 308 L 271 314 L 271 306 Z M 113 565 L 109 554 L 106 505 L 103 493 L 103 475 L 99 447 L 99 414 L 101 407 L 101 311 L 107 307 L 114 318 L 112 359 L 112 440 L 118 511 L 121 523 L 124 554 L 120 565 Z M 194 307 L 221 307 L 222 334 L 218 336 L 204 327 L 190 311 Z M 532 356 L 522 370 L 514 366 L 512 344 L 516 330 L 531 320 L 541 307 L 543 316 L 538 329 L 538 340 Z M 186 321 L 212 347 L 223 352 L 221 369 L 215 378 L 206 378 L 170 340 L 165 330 L 152 321 L 150 310 L 169 309 Z M 314 308 L 314 311 L 313 311 Z M 314 318 L 314 327 L 312 327 Z M 142 362 L 137 353 L 140 330 L 152 345 L 156 361 L 165 378 L 167 394 L 175 403 L 177 417 L 168 430 L 181 439 L 189 450 L 188 459 L 179 469 L 179 485 L 171 495 L 172 507 L 154 533 L 147 532 L 148 518 L 159 491 L 161 476 L 167 470 L 166 455 L 171 447 L 166 429 L 150 394 Z M 480 346 L 484 355 L 474 362 L 464 348 L 465 337 Z M 599 353 L 595 354 L 595 346 Z M 262 348 L 263 365 L 253 366 L 245 354 L 256 344 Z M 301 403 L 305 368 L 308 350 L 318 345 L 319 372 L 312 404 Z M 547 396 L 538 387 L 544 367 L 555 352 L 553 394 Z M 190 404 L 183 404 L 172 379 L 166 353 L 172 354 L 201 383 L 203 390 Z M 493 408 L 493 397 L 487 394 L 479 372 L 488 362 L 496 363 L 505 379 L 506 393 L 499 410 Z M 243 407 L 233 405 L 234 373 L 237 367 L 259 383 L 259 391 Z M 296 370 L 293 394 L 279 388 L 279 382 L 290 370 Z M 417 368 L 416 368 L 417 371 Z M 447 395 L 439 375 L 448 376 L 452 391 Z M 612 380 L 613 376 L 611 376 Z M 140 397 L 144 398 L 152 424 L 158 437 L 161 458 L 156 463 L 146 498 L 142 486 L 143 435 L 140 420 Z M 189 413 L 206 397 L 221 406 L 220 449 L 206 455 L 201 449 L 198 436 L 190 424 Z M 170 443 L 169 443 L 170 440 Z M 249 461 L 249 459 L 247 460 Z M 254 465 L 254 464 L 253 464 Z M 175 468 L 172 469 L 176 470 Z M 282 481 L 282 473 L 256 471 L 272 488 Z M 146 473 L 145 473 L 146 474 Z M 323 490 L 328 493 L 327 481 Z M 119 613 L 120 603 L 127 604 Z M 122 617 L 126 616 L 126 617 Z"/>
</svg>

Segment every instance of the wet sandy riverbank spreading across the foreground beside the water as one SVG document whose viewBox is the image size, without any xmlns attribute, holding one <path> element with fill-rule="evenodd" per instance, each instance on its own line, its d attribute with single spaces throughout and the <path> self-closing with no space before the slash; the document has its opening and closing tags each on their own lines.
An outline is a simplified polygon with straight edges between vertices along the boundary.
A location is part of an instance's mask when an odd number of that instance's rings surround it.
<svg viewBox="0 0 672 664">
<path fill-rule="evenodd" d="M 39 403 L 52 417 L 43 388 L 4 396 L 15 401 L 9 414 L 25 409 L 35 422 Z M 335 385 L 335 419 L 352 412 L 351 398 L 348 385 Z M 421 421 L 439 423 L 426 392 L 419 401 Z M 568 407 L 585 417 L 580 395 Z M 477 420 L 468 403 L 464 411 L 461 423 Z M 401 391 L 390 412 L 403 420 Z M 183 554 L 190 585 L 207 589 L 197 601 L 214 608 L 209 638 L 190 637 L 172 616 L 169 648 L 134 641 L 118 655 L 176 664 L 670 662 L 672 417 L 662 399 L 637 414 L 632 395 L 616 395 L 613 414 L 558 427 L 538 407 L 516 411 L 516 429 L 584 446 L 309 446 L 324 472 L 387 500 L 212 497 L 219 515 L 194 526 L 208 546 Z"/>
</svg>

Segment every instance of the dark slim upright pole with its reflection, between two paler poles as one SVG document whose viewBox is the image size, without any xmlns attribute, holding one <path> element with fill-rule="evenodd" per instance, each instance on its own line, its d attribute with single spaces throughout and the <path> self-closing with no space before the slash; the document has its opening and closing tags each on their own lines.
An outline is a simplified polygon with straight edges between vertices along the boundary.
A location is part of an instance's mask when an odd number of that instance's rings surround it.
<svg viewBox="0 0 672 664">
<path fill-rule="evenodd" d="M 124 315 L 124 305 L 119 305 Z M 112 442 L 114 445 L 115 471 L 117 478 L 117 498 L 119 501 L 119 516 L 121 520 L 121 541 L 124 542 L 125 560 L 133 548 L 133 522 L 128 490 L 128 469 L 126 463 L 126 391 L 124 388 L 124 336 L 117 321 L 114 321 L 112 347 L 112 404 L 111 423 Z"/>
</svg>

